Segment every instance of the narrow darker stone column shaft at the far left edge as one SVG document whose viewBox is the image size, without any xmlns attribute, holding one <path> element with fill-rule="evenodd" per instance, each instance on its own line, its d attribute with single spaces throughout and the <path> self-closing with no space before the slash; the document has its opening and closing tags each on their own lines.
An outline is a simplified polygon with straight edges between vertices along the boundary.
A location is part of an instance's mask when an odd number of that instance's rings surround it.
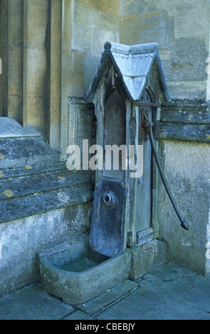
<svg viewBox="0 0 210 334">
<path fill-rule="evenodd" d="M 3 116 L 20 124 L 23 77 L 23 0 L 2 1 Z"/>
</svg>

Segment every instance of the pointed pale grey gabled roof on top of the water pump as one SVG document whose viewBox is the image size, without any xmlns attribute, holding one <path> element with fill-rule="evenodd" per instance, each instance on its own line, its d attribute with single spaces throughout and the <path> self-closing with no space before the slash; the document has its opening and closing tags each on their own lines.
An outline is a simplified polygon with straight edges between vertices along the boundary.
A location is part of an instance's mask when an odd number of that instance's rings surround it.
<svg viewBox="0 0 210 334">
<path fill-rule="evenodd" d="M 122 45 L 106 42 L 100 64 L 86 95 L 88 102 L 93 102 L 110 60 L 131 101 L 140 101 L 151 70 L 154 71 L 161 102 L 171 100 L 157 43 Z"/>
</svg>

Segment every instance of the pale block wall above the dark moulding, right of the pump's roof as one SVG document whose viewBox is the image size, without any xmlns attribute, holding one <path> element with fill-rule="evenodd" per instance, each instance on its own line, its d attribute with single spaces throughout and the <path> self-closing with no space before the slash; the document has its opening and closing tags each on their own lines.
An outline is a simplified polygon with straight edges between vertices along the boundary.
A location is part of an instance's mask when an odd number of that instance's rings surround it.
<svg viewBox="0 0 210 334">
<path fill-rule="evenodd" d="M 172 99 L 206 99 L 209 1 L 121 0 L 120 42 L 157 42 Z"/>
</svg>

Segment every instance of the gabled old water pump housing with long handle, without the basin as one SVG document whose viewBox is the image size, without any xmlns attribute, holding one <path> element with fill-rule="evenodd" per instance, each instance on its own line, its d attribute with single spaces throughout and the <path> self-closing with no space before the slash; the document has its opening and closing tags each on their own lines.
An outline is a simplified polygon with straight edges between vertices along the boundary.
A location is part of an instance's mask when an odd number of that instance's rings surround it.
<svg viewBox="0 0 210 334">
<path fill-rule="evenodd" d="M 157 154 L 160 104 L 170 100 L 157 43 L 105 43 L 86 98 L 95 104 L 97 144 L 105 152 L 103 170 L 95 177 L 91 249 L 112 257 L 138 244 L 142 232 L 157 236 L 157 168 L 152 153 L 182 227 L 188 230 Z M 107 148 L 112 149 L 108 158 Z M 135 174 L 130 166 L 136 166 Z"/>
</svg>

